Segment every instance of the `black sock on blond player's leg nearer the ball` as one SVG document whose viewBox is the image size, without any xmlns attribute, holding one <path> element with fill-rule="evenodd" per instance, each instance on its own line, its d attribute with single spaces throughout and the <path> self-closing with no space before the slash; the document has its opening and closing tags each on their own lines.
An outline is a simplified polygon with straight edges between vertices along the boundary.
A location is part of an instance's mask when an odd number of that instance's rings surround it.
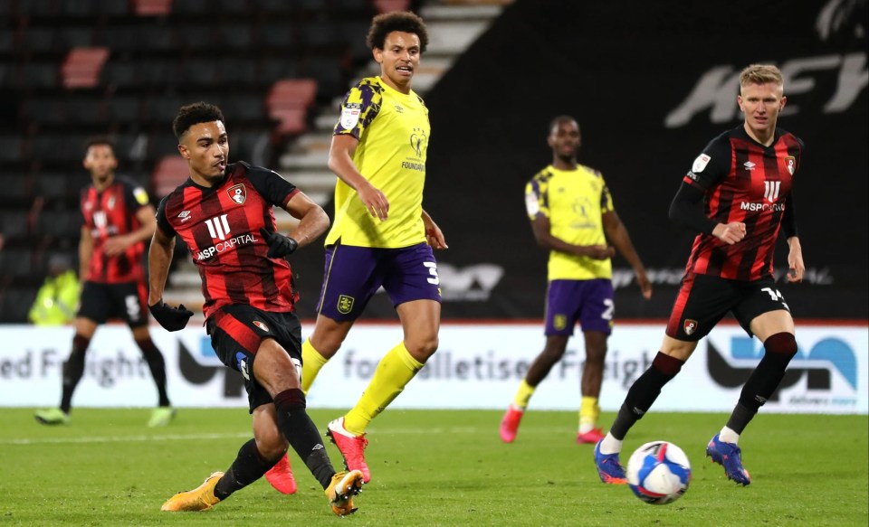
<svg viewBox="0 0 869 527">
<path fill-rule="evenodd" d="M 652 404 L 661 394 L 664 384 L 676 376 L 684 363 L 675 357 L 658 352 L 654 356 L 652 365 L 640 375 L 639 379 L 634 381 L 631 389 L 627 391 L 625 402 L 618 409 L 616 420 L 609 428 L 609 433 L 619 441 L 624 440 L 627 431 L 634 426 L 636 421 L 643 418 L 645 412 L 652 408 Z"/>
</svg>

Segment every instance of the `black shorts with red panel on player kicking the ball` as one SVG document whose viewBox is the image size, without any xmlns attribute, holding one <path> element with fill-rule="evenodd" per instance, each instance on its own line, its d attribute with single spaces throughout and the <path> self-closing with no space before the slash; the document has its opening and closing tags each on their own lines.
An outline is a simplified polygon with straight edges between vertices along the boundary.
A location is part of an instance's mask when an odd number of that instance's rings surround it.
<svg viewBox="0 0 869 527">
<path fill-rule="evenodd" d="M 269 392 L 253 378 L 253 361 L 263 339 L 273 338 L 281 344 L 301 376 L 301 324 L 293 313 L 270 313 L 241 304 L 224 306 L 208 317 L 205 329 L 221 362 L 244 377 L 251 413 L 272 402 Z"/>
</svg>

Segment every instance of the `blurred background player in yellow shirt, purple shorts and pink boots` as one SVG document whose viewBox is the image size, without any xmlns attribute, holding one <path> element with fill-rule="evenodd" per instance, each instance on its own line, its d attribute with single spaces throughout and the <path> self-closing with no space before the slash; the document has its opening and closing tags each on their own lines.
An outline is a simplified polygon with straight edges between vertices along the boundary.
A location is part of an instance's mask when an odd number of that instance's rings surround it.
<svg viewBox="0 0 869 527">
<path fill-rule="evenodd" d="M 552 366 L 561 360 L 568 339 L 579 322 L 585 335 L 586 361 L 582 370 L 577 443 L 595 444 L 603 433 L 597 428 L 600 385 L 604 375 L 606 339 L 613 326 L 613 284 L 610 259 L 615 249 L 634 268 L 645 299 L 652 285 L 637 256 L 625 225 L 618 218 L 603 176 L 577 163 L 582 143 L 574 118 L 560 116 L 549 124 L 552 165 L 536 174 L 525 187 L 525 205 L 537 244 L 549 250 L 549 287 L 546 305 L 546 345 L 531 362 L 512 404 L 501 419 L 501 439 L 516 438 L 531 395 Z"/>
</svg>

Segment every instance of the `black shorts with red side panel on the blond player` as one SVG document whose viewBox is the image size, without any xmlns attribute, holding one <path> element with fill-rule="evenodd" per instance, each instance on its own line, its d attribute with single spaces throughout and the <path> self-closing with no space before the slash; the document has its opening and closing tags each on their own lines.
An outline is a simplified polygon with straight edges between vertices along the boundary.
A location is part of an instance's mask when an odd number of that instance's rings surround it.
<svg viewBox="0 0 869 527">
<path fill-rule="evenodd" d="M 673 304 L 667 336 L 697 342 L 711 332 L 728 311 L 750 336 L 750 324 L 759 315 L 785 309 L 785 297 L 772 278 L 752 282 L 686 273 Z"/>
</svg>

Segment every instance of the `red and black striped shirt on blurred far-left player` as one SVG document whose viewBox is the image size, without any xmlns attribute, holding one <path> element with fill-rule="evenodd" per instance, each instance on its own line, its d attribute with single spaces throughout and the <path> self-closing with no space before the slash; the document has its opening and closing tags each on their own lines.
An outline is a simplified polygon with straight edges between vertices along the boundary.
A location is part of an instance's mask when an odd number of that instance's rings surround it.
<svg viewBox="0 0 869 527">
<path fill-rule="evenodd" d="M 138 241 L 116 256 L 105 252 L 106 240 L 136 231 L 136 213 L 148 205 L 148 193 L 138 184 L 116 177 L 102 192 L 92 184 L 81 190 L 81 215 L 91 231 L 93 253 L 85 280 L 102 284 L 144 281 L 145 242 Z"/>
</svg>

